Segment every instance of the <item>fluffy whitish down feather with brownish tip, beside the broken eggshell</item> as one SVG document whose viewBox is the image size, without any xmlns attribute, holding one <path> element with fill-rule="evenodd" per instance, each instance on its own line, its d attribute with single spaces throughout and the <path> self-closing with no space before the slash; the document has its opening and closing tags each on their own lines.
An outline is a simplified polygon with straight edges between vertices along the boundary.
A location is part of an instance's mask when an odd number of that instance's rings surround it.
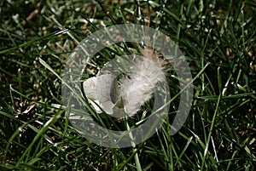
<svg viewBox="0 0 256 171">
<path fill-rule="evenodd" d="M 120 79 L 120 97 L 125 113 L 131 117 L 148 101 L 157 86 L 165 81 L 165 72 L 160 64 L 146 58 L 136 58 L 131 63 L 131 73 Z"/>
</svg>

